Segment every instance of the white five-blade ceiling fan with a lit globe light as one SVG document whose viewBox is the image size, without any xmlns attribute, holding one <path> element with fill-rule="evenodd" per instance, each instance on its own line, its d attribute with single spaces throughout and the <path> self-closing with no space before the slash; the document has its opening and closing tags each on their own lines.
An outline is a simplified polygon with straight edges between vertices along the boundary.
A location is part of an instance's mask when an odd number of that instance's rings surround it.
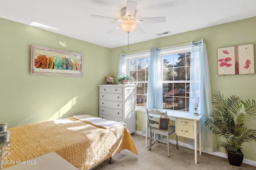
<svg viewBox="0 0 256 170">
<path fill-rule="evenodd" d="M 114 21 L 120 21 L 122 22 L 117 27 L 114 27 L 113 29 L 110 29 L 107 33 L 113 33 L 117 29 L 122 29 L 124 32 L 130 33 L 132 32 L 135 27 L 138 25 L 136 23 L 159 23 L 159 22 L 165 22 L 165 17 L 154 17 L 154 18 L 140 18 L 136 19 L 136 7 L 137 3 L 128 0 L 126 7 L 121 9 L 121 19 L 118 18 L 110 18 L 105 16 L 97 16 L 97 15 L 91 15 L 93 18 L 101 18 L 101 19 L 107 19 L 107 20 L 114 20 Z M 143 33 L 145 33 L 140 27 L 138 27 Z"/>
</svg>

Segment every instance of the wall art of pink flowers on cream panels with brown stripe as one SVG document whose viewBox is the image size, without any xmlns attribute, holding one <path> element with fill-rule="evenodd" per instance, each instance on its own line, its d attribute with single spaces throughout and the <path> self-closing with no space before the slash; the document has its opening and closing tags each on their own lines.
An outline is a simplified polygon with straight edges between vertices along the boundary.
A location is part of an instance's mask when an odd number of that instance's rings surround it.
<svg viewBox="0 0 256 170">
<path fill-rule="evenodd" d="M 254 44 L 218 48 L 218 75 L 254 74 Z"/>
</svg>

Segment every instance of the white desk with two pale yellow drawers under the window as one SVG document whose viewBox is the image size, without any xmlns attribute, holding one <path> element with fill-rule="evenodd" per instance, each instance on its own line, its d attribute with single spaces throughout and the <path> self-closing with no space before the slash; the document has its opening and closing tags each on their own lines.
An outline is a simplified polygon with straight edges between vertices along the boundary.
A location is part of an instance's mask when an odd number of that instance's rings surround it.
<svg viewBox="0 0 256 170">
<path fill-rule="evenodd" d="M 160 111 L 165 112 L 166 110 Z M 167 111 L 167 115 L 171 120 L 175 121 L 175 133 L 177 136 L 194 139 L 195 164 L 197 164 L 197 135 L 199 134 L 199 154 L 202 154 L 201 119 L 204 115 L 194 115 L 193 113 L 179 111 Z M 148 147 L 148 120 L 146 120 L 146 147 Z"/>
</svg>

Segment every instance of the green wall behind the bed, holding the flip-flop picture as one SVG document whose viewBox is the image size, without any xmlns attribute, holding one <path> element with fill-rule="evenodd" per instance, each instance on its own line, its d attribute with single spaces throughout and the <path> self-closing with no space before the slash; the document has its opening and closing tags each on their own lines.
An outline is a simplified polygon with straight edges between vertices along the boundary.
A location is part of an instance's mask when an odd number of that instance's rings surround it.
<svg viewBox="0 0 256 170">
<path fill-rule="evenodd" d="M 110 73 L 111 49 L 3 18 L 0 25 L 0 122 L 9 128 L 79 114 L 98 117 L 98 84 Z M 84 76 L 31 75 L 31 45 L 84 54 Z"/>
</svg>

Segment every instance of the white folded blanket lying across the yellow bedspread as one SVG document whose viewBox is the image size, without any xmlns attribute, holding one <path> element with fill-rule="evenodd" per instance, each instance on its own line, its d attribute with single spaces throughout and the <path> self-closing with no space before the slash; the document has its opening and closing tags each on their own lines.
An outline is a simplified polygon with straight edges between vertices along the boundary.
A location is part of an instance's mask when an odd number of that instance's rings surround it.
<svg viewBox="0 0 256 170">
<path fill-rule="evenodd" d="M 117 127 L 117 126 L 121 126 L 121 125 L 126 126 L 126 124 L 122 121 L 111 121 L 111 120 L 102 119 L 99 117 L 93 117 L 91 115 L 74 115 L 73 117 L 80 121 L 85 121 L 85 122 L 91 123 L 95 126 L 103 127 L 105 129 L 108 129 L 111 127 Z"/>
</svg>

